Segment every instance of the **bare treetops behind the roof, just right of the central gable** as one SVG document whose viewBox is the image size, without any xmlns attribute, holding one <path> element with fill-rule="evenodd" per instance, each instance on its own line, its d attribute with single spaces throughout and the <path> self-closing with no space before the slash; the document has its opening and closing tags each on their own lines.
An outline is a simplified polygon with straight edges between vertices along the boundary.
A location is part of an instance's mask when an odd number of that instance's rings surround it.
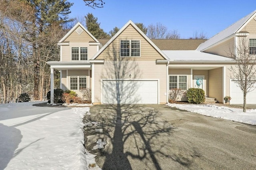
<svg viewBox="0 0 256 170">
<path fill-rule="evenodd" d="M 156 23 L 156 25 L 148 25 L 147 36 L 150 39 L 179 39 L 180 34 L 177 30 L 168 31 L 168 28 L 162 23 Z"/>
</svg>

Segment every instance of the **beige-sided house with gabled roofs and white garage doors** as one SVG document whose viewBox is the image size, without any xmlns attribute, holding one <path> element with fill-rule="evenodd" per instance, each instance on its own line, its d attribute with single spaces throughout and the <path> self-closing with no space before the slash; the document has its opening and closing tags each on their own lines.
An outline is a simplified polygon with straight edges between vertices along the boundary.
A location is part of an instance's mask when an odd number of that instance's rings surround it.
<svg viewBox="0 0 256 170">
<path fill-rule="evenodd" d="M 202 88 L 207 98 L 223 103 L 231 96 L 231 104 L 242 104 L 229 55 L 241 37 L 255 54 L 256 11 L 208 40 L 149 39 L 132 21 L 111 39 L 96 39 L 77 23 L 58 43 L 60 61 L 48 62 L 51 94 L 58 69 L 60 88 L 80 97 L 91 89 L 93 104 L 166 104 L 173 88 L 182 89 L 180 101 L 187 100 L 188 88 Z M 255 104 L 255 96 L 250 92 L 247 102 Z"/>
</svg>

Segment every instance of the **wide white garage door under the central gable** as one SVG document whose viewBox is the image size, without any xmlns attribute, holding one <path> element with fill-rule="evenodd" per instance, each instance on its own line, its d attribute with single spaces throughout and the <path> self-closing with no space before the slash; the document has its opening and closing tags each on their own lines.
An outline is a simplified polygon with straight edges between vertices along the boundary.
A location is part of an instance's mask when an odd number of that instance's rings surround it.
<svg viewBox="0 0 256 170">
<path fill-rule="evenodd" d="M 158 104 L 157 80 L 103 80 L 103 104 Z"/>
</svg>

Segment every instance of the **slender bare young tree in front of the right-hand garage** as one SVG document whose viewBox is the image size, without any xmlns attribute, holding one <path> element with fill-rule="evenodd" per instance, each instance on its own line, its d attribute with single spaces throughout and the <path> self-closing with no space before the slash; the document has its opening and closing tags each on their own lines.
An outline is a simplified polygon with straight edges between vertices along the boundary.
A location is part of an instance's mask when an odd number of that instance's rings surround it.
<svg viewBox="0 0 256 170">
<path fill-rule="evenodd" d="M 228 55 L 236 62 L 230 67 L 231 79 L 235 80 L 244 94 L 243 111 L 246 112 L 246 95 L 255 89 L 256 84 L 256 51 L 250 49 L 246 37 L 240 37 L 237 47 L 235 50 L 230 49 Z"/>
</svg>

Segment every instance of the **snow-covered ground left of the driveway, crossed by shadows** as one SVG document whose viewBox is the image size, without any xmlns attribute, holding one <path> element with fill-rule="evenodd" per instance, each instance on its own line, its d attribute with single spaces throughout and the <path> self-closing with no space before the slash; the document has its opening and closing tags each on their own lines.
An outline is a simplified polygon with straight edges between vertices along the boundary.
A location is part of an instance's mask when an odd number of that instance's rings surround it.
<svg viewBox="0 0 256 170">
<path fill-rule="evenodd" d="M 86 169 L 82 118 L 89 107 L 0 104 L 0 170 Z"/>
</svg>

